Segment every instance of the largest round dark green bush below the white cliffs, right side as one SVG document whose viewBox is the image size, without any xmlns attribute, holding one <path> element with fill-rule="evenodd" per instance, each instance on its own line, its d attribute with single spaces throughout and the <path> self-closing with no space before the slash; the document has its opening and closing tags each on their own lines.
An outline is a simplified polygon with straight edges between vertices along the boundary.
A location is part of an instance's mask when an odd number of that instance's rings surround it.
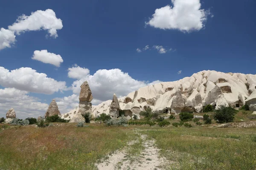
<svg viewBox="0 0 256 170">
<path fill-rule="evenodd" d="M 221 106 L 219 109 L 215 110 L 213 118 L 218 123 L 233 122 L 233 120 L 235 119 L 236 113 L 237 113 L 236 109 L 232 107 Z"/>
</svg>

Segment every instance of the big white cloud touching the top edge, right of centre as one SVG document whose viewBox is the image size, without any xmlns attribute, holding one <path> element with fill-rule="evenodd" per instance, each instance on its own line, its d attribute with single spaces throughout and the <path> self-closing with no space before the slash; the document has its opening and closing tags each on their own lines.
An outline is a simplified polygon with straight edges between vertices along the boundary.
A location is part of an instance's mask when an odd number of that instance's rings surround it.
<svg viewBox="0 0 256 170">
<path fill-rule="evenodd" d="M 210 12 L 201 9 L 200 0 L 172 0 L 172 4 L 173 6 L 167 5 L 156 9 L 146 25 L 183 32 L 199 31 L 204 28 Z"/>
</svg>

